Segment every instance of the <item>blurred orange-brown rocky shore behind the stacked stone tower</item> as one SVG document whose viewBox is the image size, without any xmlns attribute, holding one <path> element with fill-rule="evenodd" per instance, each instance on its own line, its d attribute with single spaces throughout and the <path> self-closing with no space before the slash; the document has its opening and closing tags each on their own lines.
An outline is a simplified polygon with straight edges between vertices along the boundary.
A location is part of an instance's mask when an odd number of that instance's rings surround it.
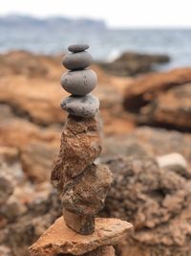
<svg viewBox="0 0 191 256">
<path fill-rule="evenodd" d="M 0 255 L 29 256 L 31 245 L 61 216 L 49 185 L 67 115 L 57 104 L 60 56 L 12 52 L 0 56 Z M 116 77 L 100 66 L 103 152 L 114 174 L 103 216 L 132 221 L 135 233 L 120 256 L 189 255 L 191 69 Z M 172 152 L 186 162 L 168 156 Z M 5 184 L 6 189 L 5 189 Z M 43 216 L 43 218 L 42 218 Z M 127 251 L 127 246 L 129 250 Z"/>
</svg>

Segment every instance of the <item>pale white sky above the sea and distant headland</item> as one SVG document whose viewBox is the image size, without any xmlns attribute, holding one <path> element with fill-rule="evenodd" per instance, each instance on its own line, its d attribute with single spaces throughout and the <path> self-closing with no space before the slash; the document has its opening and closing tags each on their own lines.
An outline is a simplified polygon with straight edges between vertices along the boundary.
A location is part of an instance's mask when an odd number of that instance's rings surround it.
<svg viewBox="0 0 191 256">
<path fill-rule="evenodd" d="M 191 28 L 191 0 L 0 0 L 0 15 L 103 19 L 112 28 Z"/>
</svg>

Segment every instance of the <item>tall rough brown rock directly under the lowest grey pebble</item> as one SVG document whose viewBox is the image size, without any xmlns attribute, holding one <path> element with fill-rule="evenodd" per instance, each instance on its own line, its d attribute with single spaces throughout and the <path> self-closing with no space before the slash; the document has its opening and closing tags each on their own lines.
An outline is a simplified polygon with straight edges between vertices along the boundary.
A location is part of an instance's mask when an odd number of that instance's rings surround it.
<svg viewBox="0 0 191 256">
<path fill-rule="evenodd" d="M 67 180 L 80 175 L 95 161 L 101 151 L 99 132 L 95 118 L 68 117 L 52 172 L 52 182 L 58 189 L 62 191 Z"/>
</svg>

